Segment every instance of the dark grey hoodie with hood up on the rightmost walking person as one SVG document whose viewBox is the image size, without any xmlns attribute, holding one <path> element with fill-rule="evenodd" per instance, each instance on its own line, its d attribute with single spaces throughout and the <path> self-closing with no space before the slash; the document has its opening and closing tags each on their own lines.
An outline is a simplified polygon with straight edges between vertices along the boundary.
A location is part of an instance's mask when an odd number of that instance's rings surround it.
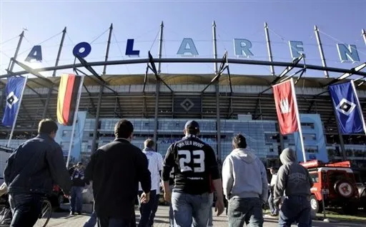
<svg viewBox="0 0 366 227">
<path fill-rule="evenodd" d="M 285 191 L 285 196 L 310 196 L 312 178 L 307 169 L 298 164 L 295 152 L 285 148 L 280 155 L 282 166 L 277 173 L 274 185 L 274 202 L 280 200 Z"/>
</svg>

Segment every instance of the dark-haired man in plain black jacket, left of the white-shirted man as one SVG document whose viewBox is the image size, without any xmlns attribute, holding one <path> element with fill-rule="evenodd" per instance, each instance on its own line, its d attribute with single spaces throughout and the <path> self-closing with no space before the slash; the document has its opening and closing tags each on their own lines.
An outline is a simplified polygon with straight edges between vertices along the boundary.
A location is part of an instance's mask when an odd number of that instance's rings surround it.
<svg viewBox="0 0 366 227">
<path fill-rule="evenodd" d="M 141 202 L 149 201 L 151 178 L 147 157 L 132 145 L 134 126 L 120 120 L 114 126 L 116 139 L 91 155 L 85 175 L 93 181 L 95 212 L 102 227 L 129 226 L 134 212 L 139 182 Z"/>
</svg>

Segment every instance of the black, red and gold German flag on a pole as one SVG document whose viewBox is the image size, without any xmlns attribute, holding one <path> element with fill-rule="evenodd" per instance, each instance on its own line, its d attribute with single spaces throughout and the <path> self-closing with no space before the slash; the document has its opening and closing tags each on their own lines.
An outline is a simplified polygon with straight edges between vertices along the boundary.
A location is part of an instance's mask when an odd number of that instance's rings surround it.
<svg viewBox="0 0 366 227">
<path fill-rule="evenodd" d="M 57 97 L 57 121 L 64 126 L 71 126 L 74 121 L 76 101 L 81 83 L 81 76 L 61 75 L 59 95 Z"/>
</svg>

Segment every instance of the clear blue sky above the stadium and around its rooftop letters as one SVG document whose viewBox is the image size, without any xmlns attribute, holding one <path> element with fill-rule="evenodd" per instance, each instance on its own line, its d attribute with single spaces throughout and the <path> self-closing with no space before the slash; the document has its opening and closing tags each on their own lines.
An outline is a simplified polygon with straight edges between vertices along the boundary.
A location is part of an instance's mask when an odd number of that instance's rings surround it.
<svg viewBox="0 0 366 227">
<path fill-rule="evenodd" d="M 340 63 L 337 43 L 355 44 L 360 60 L 366 61 L 366 44 L 361 29 L 366 29 L 366 1 L 307 0 L 307 1 L 4 1 L 0 6 L 0 74 L 14 55 L 23 28 L 24 39 L 19 60 L 24 61 L 32 46 L 42 43 L 41 63 L 37 68 L 52 66 L 56 60 L 61 31 L 67 26 L 67 36 L 60 64 L 74 61 L 72 49 L 81 41 L 94 41 L 86 61 L 103 61 L 107 45 L 107 29 L 113 23 L 109 60 L 129 59 L 125 56 L 127 39 L 135 39 L 134 49 L 140 58 L 157 57 L 159 25 L 164 21 L 163 57 L 179 57 L 177 50 L 184 38 L 192 38 L 199 56 L 213 57 L 212 21 L 217 24 L 218 56 L 224 51 L 234 56 L 233 39 L 252 41 L 251 59 L 267 60 L 264 22 L 269 24 L 274 61 L 291 61 L 289 40 L 303 41 L 307 64 L 321 65 L 314 34 L 319 27 L 328 66 L 350 69 L 360 63 Z M 102 36 L 101 36 L 102 35 Z M 156 39 L 156 40 L 155 40 Z M 4 43 L 4 41 L 7 41 Z M 107 74 L 144 74 L 146 64 L 108 66 Z M 95 68 L 102 73 L 102 67 Z M 16 66 L 14 71 L 20 68 Z M 279 74 L 282 68 L 276 68 Z M 269 66 L 230 65 L 232 74 L 269 74 Z M 59 71 L 62 72 L 71 71 Z M 162 64 L 162 73 L 212 73 L 213 64 Z M 49 74 L 45 74 L 49 75 Z M 330 76 L 337 76 L 331 74 Z M 321 71 L 307 71 L 306 76 L 323 76 Z"/>
</svg>

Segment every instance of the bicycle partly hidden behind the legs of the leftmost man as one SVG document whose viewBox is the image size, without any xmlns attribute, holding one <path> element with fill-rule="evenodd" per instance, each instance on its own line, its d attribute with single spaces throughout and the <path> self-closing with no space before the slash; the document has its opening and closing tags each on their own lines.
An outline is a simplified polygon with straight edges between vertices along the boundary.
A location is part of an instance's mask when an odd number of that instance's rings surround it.
<svg viewBox="0 0 366 227">
<path fill-rule="evenodd" d="M 44 198 L 41 205 L 41 213 L 39 213 L 39 219 L 34 224 L 35 227 L 46 227 L 51 218 L 52 206 L 51 202 Z M 9 203 L 4 206 L 0 211 L 0 227 L 9 227 L 11 224 L 11 218 L 13 215 L 11 213 L 11 208 Z"/>
</svg>

